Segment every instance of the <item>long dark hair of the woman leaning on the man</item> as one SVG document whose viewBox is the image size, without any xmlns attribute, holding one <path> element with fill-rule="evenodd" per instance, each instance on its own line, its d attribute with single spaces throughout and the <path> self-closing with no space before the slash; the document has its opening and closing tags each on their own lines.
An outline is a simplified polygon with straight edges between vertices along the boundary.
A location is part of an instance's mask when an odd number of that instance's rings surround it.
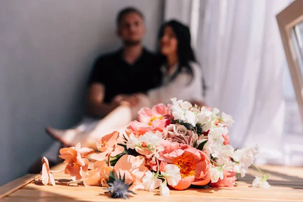
<svg viewBox="0 0 303 202">
<path fill-rule="evenodd" d="M 172 76 L 172 80 L 176 78 L 176 76 L 180 73 L 181 68 L 185 68 L 191 75 L 193 74 L 192 69 L 189 65 L 190 62 L 197 62 L 193 53 L 193 50 L 191 48 L 191 39 L 190 39 L 190 31 L 189 28 L 182 23 L 171 20 L 168 22 L 165 22 L 159 30 L 158 33 L 158 40 L 162 38 L 164 35 L 164 30 L 166 27 L 171 27 L 176 35 L 176 38 L 178 40 L 178 47 L 177 47 L 177 54 L 178 54 L 178 62 L 179 66 L 177 68 L 176 73 Z M 160 49 L 160 48 L 159 48 Z M 160 52 L 160 51 L 159 51 Z M 166 57 L 163 56 L 163 63 L 166 63 Z M 203 89 L 205 94 L 205 81 L 204 77 L 202 80 L 203 83 Z"/>
</svg>

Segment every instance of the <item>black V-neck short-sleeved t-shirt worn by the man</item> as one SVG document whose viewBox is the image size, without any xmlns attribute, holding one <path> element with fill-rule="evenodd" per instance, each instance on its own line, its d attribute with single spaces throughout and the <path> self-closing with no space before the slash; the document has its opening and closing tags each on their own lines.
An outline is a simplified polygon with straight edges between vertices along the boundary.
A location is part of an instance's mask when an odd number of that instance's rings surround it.
<svg viewBox="0 0 303 202">
<path fill-rule="evenodd" d="M 122 59 L 122 49 L 98 58 L 94 64 L 89 83 L 105 86 L 105 103 L 110 103 L 117 94 L 146 92 L 161 83 L 161 61 L 143 48 L 141 56 L 128 64 Z"/>
</svg>

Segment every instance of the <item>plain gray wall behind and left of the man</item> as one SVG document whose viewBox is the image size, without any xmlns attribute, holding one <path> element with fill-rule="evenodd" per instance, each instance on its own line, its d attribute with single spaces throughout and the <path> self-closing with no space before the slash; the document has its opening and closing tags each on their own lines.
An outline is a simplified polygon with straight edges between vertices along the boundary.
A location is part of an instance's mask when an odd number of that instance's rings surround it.
<svg viewBox="0 0 303 202">
<path fill-rule="evenodd" d="M 50 145 L 44 127 L 67 128 L 83 115 L 94 58 L 119 45 L 117 12 L 146 16 L 155 48 L 163 1 L 0 0 L 0 185 L 26 174 Z"/>
</svg>

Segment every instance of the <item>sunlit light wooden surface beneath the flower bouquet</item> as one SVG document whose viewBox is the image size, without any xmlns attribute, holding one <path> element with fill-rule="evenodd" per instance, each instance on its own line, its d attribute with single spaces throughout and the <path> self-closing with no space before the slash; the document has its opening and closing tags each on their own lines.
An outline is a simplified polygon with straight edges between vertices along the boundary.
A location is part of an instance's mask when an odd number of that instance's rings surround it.
<svg viewBox="0 0 303 202">
<path fill-rule="evenodd" d="M 62 169 L 59 165 L 52 170 Z M 249 187 L 255 175 L 250 169 L 248 175 L 237 181 L 235 187 L 171 190 L 168 197 L 154 192 L 136 191 L 131 201 L 303 201 L 303 168 L 263 166 L 270 172 L 269 189 Z M 85 187 L 82 182 L 73 182 L 63 173 L 55 173 L 56 186 L 44 186 L 38 175 L 27 175 L 0 187 L 1 201 L 123 201 L 109 198 L 102 187 Z M 33 180 L 35 179 L 35 180 Z M 24 186 L 23 186 L 24 185 Z M 20 187 L 23 186 L 23 187 Z M 12 190 L 15 190 L 12 192 Z M 11 192 L 11 193 L 10 193 Z"/>
</svg>

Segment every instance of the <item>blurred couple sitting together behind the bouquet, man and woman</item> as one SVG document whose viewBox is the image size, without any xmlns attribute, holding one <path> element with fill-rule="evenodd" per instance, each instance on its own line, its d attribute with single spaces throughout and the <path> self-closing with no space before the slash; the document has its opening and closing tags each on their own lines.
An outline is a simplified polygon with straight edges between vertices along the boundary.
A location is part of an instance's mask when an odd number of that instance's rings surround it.
<svg viewBox="0 0 303 202">
<path fill-rule="evenodd" d="M 96 149 L 95 141 L 114 130 L 124 132 L 142 107 L 167 105 L 172 97 L 206 106 L 205 80 L 187 26 L 176 20 L 163 23 L 158 52 L 151 53 L 142 44 L 146 28 L 141 11 L 125 8 L 118 13 L 116 23 L 123 46 L 95 61 L 88 83 L 87 117 L 72 129 L 46 128 L 58 140 L 42 155 L 52 165 L 58 163 L 62 145 L 81 142 L 83 147 Z M 30 172 L 39 171 L 40 160 Z"/>
</svg>

